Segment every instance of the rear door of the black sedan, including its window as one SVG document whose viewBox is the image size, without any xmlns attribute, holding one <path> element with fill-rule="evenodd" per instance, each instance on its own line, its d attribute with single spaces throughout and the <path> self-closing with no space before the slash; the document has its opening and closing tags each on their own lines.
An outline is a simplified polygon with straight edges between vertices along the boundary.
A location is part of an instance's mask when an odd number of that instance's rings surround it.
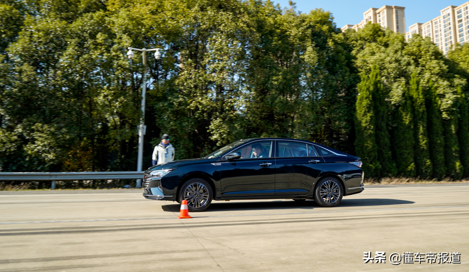
<svg viewBox="0 0 469 272">
<path fill-rule="evenodd" d="M 275 194 L 308 194 L 324 168 L 324 159 L 312 145 L 296 141 L 277 141 Z"/>
</svg>

